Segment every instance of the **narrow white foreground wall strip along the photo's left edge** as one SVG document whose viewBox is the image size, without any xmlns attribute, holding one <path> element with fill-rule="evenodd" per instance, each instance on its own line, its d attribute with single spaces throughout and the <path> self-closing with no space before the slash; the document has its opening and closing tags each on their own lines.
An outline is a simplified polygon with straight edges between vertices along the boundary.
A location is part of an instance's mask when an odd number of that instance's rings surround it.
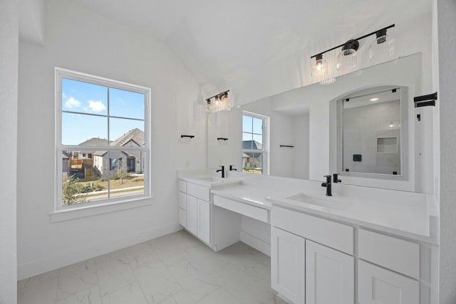
<svg viewBox="0 0 456 304">
<path fill-rule="evenodd" d="M 16 303 L 16 154 L 19 14 L 0 1 L 0 303 Z"/>
</svg>

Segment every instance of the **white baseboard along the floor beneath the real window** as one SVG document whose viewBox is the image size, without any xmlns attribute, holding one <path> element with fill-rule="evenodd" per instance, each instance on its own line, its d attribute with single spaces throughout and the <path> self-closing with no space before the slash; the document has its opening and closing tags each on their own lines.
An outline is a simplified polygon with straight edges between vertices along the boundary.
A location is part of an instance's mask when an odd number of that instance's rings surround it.
<svg viewBox="0 0 456 304">
<path fill-rule="evenodd" d="M 57 256 L 48 256 L 38 261 L 31 263 L 25 263 L 18 265 L 17 277 L 18 281 L 31 276 L 36 276 L 40 273 L 46 273 L 53 271 L 54 269 L 61 268 L 64 266 L 71 265 L 85 261 L 88 258 L 94 258 L 105 253 L 110 253 L 128 246 L 133 246 L 143 241 L 155 239 L 159 236 L 165 236 L 166 234 L 172 234 L 173 232 L 179 231 L 182 226 L 179 224 L 172 224 L 168 226 L 162 226 L 147 231 L 142 231 L 138 234 L 128 236 L 124 239 L 113 239 L 110 241 L 100 241 L 95 246 L 84 247 L 77 251 L 60 253 Z"/>
</svg>

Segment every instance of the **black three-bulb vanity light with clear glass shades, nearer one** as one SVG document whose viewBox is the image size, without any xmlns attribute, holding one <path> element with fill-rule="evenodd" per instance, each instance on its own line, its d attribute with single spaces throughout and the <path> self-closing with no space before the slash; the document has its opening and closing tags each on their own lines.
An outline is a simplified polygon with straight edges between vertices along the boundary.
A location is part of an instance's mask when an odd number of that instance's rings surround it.
<svg viewBox="0 0 456 304">
<path fill-rule="evenodd" d="M 388 28 L 393 28 L 394 26 L 394 24 L 391 24 L 390 26 L 380 28 L 379 30 L 373 31 L 372 33 L 368 33 L 364 36 L 351 39 L 346 43 L 342 43 L 341 45 L 334 46 L 333 48 L 329 48 L 326 51 L 311 56 L 311 59 L 315 58 L 315 62 L 311 64 L 312 80 L 320 83 L 321 85 L 328 85 L 336 81 L 335 75 L 330 75 L 329 73 L 330 69 L 328 62 L 323 59 L 323 54 L 336 50 L 337 48 L 341 48 L 341 52 L 338 53 L 336 65 L 334 67 L 335 70 L 339 73 L 339 75 L 354 70 L 358 61 L 356 51 L 358 51 L 359 48 L 359 40 L 374 34 L 375 40 L 369 48 L 369 59 L 372 61 L 373 58 L 381 56 L 384 57 L 383 59 L 393 56 L 394 40 L 392 38 L 388 38 L 386 32 Z"/>
</svg>

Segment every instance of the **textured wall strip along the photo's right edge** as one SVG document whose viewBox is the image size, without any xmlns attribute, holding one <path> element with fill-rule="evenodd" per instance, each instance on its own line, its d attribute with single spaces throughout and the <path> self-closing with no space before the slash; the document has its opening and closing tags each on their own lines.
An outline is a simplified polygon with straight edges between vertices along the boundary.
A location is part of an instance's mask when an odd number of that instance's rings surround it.
<svg viewBox="0 0 456 304">
<path fill-rule="evenodd" d="M 438 0 L 440 88 L 440 303 L 456 303 L 456 2 Z"/>
</svg>

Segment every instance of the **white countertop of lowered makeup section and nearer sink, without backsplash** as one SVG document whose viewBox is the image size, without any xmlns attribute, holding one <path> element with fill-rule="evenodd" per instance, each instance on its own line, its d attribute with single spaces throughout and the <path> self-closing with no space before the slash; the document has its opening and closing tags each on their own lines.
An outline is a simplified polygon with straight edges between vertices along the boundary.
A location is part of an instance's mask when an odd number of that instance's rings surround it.
<svg viewBox="0 0 456 304">
<path fill-rule="evenodd" d="M 366 199 L 353 199 L 344 196 L 324 196 L 324 201 L 334 201 L 331 204 L 319 206 L 306 204 L 303 201 L 286 199 L 298 194 L 301 190 L 268 189 L 262 187 L 239 184 L 223 189 L 212 189 L 214 195 L 227 199 L 241 201 L 245 204 L 271 209 L 272 206 L 281 206 L 287 209 L 313 214 L 316 216 L 344 221 L 348 224 L 363 228 L 375 229 L 388 234 L 403 236 L 416 241 L 437 244 L 437 239 L 430 236 L 430 214 L 423 204 L 403 204 L 400 201 L 369 201 Z M 318 196 L 311 195 L 316 198 Z"/>
</svg>

